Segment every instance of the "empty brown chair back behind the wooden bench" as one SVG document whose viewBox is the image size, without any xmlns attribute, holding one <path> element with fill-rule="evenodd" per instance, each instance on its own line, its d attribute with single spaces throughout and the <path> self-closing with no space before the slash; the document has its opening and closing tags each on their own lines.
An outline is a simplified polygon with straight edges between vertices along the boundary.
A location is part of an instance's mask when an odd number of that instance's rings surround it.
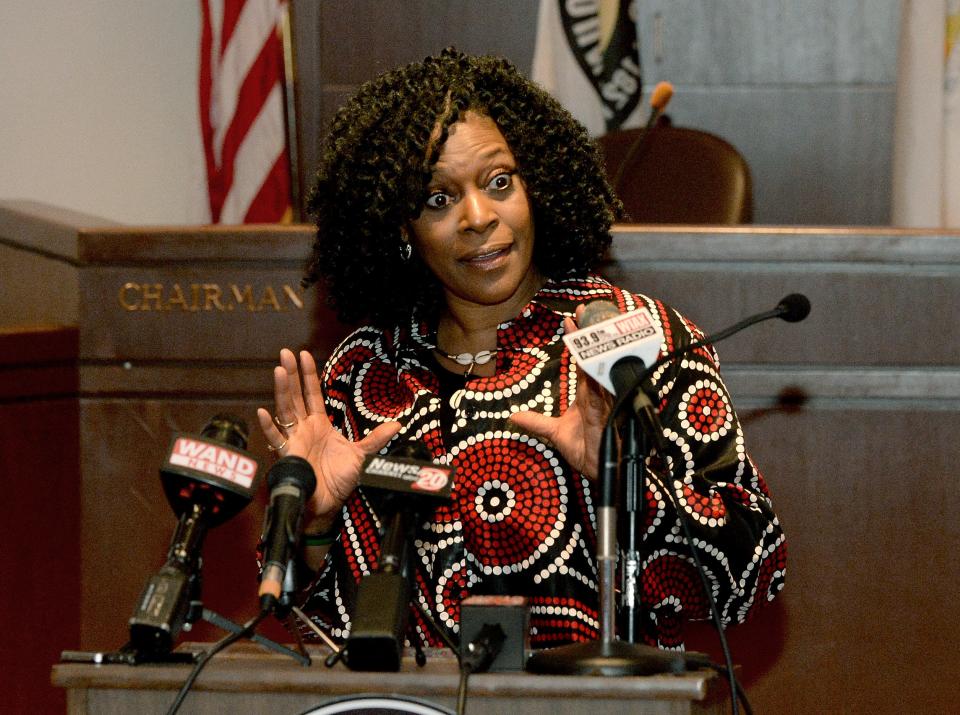
<svg viewBox="0 0 960 715">
<path fill-rule="evenodd" d="M 732 144 L 698 129 L 674 127 L 663 119 L 646 136 L 642 134 L 643 129 L 626 129 L 597 140 L 607 176 L 626 207 L 626 220 L 750 223 L 750 168 Z M 622 167 L 624 158 L 627 166 Z"/>
</svg>

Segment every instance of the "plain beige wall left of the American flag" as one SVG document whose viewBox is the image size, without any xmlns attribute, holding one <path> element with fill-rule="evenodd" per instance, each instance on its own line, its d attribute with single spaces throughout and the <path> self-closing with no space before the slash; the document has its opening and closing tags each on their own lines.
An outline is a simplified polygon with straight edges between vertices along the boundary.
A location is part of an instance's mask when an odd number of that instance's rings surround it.
<svg viewBox="0 0 960 715">
<path fill-rule="evenodd" d="M 206 220 L 196 0 L 0 3 L 0 199 Z"/>
</svg>

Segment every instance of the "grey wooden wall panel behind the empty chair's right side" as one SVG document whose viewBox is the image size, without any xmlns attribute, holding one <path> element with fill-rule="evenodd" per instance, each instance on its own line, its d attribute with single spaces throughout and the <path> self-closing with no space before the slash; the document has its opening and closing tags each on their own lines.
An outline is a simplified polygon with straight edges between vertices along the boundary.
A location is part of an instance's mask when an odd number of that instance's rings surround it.
<svg viewBox="0 0 960 715">
<path fill-rule="evenodd" d="M 883 225 L 900 3 L 641 0 L 644 85 L 674 123 L 733 144 L 757 224 Z"/>
</svg>

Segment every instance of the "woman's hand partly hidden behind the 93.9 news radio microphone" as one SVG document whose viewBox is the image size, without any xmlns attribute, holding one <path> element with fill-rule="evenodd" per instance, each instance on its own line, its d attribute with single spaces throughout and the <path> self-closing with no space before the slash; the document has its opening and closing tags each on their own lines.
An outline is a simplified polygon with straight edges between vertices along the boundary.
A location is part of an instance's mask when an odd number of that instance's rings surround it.
<svg viewBox="0 0 960 715">
<path fill-rule="evenodd" d="M 578 310 L 578 315 L 580 311 Z M 570 318 L 563 321 L 570 333 L 577 329 Z M 517 412 L 510 421 L 556 447 L 574 469 L 591 479 L 600 473 L 600 438 L 613 406 L 613 398 L 601 385 L 577 370 L 577 397 L 560 417 L 539 412 Z"/>
</svg>

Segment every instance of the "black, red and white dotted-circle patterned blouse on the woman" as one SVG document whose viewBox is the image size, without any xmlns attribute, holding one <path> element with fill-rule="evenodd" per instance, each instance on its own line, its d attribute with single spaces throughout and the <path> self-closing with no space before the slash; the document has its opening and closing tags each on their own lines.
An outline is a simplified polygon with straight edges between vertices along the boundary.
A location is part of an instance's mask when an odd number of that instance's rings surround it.
<svg viewBox="0 0 960 715">
<path fill-rule="evenodd" d="M 432 352 L 435 335 L 416 320 L 402 330 L 360 328 L 327 362 L 327 410 L 344 435 L 356 440 L 397 420 L 403 429 L 384 452 L 416 440 L 435 462 L 456 468 L 451 502 L 418 526 L 413 545 L 419 608 L 410 608 L 409 633 L 424 645 L 443 644 L 436 626 L 456 640 L 459 604 L 477 594 L 526 596 L 533 647 L 599 637 L 594 485 L 552 445 L 507 419 L 519 410 L 557 416 L 573 402 L 577 366 L 561 339 L 563 319 L 599 299 L 624 312 L 650 310 L 664 337 L 661 352 L 703 337 L 660 301 L 591 275 L 548 282 L 516 318 L 498 326 L 492 377 L 465 379 L 442 369 Z M 675 503 L 689 517 L 727 623 L 743 621 L 783 587 L 786 543 L 713 349 L 668 362 L 652 383 L 667 455 L 647 460 L 642 627 L 648 642 L 677 647 L 683 620 L 710 614 Z M 672 475 L 663 464 L 673 465 Z M 304 610 L 335 638 L 349 634 L 357 583 L 377 565 L 375 505 L 362 488 L 354 491 L 339 537 L 307 589 Z"/>
</svg>

